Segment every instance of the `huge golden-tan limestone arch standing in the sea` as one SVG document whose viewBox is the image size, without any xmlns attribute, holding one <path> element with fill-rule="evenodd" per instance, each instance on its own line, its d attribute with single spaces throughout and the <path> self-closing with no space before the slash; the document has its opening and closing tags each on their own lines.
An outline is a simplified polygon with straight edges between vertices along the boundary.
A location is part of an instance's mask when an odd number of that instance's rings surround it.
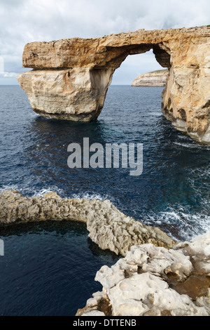
<svg viewBox="0 0 210 330">
<path fill-rule="evenodd" d="M 102 111 L 113 72 L 128 55 L 153 49 L 169 69 L 162 112 L 174 126 L 210 143 L 210 28 L 162 29 L 27 44 L 20 86 L 38 114 L 75 121 Z"/>
</svg>

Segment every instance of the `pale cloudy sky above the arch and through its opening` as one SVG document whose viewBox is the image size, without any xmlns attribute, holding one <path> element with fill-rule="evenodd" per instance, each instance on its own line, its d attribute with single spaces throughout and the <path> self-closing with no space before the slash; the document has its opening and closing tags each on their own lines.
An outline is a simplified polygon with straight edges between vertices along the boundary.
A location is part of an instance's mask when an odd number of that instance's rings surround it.
<svg viewBox="0 0 210 330">
<path fill-rule="evenodd" d="M 28 70 L 22 52 L 29 42 L 210 25 L 209 13 L 209 0 L 0 0 L 0 84 L 18 84 L 18 74 Z M 131 55 L 113 84 L 132 84 L 159 69 L 152 51 Z"/>
</svg>

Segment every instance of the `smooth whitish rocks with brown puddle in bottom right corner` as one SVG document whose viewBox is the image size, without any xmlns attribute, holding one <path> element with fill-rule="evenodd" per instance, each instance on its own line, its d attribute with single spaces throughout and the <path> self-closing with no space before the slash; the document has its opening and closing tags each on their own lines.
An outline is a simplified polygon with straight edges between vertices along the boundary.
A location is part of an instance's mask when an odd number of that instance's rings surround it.
<svg viewBox="0 0 210 330">
<path fill-rule="evenodd" d="M 103 286 L 78 316 L 209 316 L 210 232 L 174 249 L 132 246 L 95 280 Z"/>
</svg>

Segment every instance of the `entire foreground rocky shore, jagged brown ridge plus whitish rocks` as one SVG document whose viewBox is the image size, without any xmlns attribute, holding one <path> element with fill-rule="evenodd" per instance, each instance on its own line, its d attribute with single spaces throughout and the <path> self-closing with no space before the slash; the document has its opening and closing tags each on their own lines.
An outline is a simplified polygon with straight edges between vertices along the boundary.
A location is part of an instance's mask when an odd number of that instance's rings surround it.
<svg viewBox="0 0 210 330">
<path fill-rule="evenodd" d="M 103 290 L 77 316 L 210 315 L 210 232 L 178 243 L 160 228 L 125 216 L 109 200 L 0 193 L 0 226 L 43 220 L 86 223 L 94 243 L 124 257 L 97 272 Z"/>
</svg>

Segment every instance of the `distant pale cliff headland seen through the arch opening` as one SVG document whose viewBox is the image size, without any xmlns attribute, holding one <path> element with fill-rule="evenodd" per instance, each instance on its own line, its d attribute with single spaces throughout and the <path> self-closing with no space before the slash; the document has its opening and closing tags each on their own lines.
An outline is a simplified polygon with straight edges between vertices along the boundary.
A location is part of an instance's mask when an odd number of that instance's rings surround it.
<svg viewBox="0 0 210 330">
<path fill-rule="evenodd" d="M 134 87 L 162 87 L 166 85 L 167 78 L 169 77 L 168 70 L 157 70 L 145 74 L 139 74 L 134 79 L 132 86 Z"/>
</svg>

